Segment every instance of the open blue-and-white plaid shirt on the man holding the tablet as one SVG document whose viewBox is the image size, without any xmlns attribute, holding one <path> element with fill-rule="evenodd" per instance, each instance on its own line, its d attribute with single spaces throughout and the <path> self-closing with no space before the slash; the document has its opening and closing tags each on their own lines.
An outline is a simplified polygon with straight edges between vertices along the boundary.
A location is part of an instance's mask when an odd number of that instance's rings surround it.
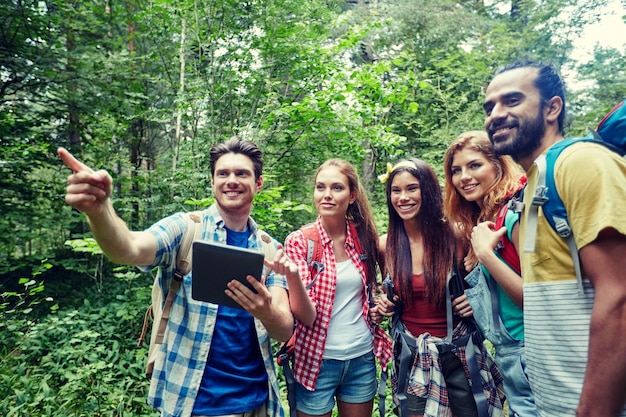
<svg viewBox="0 0 626 417">
<path fill-rule="evenodd" d="M 173 279 L 176 253 L 187 227 L 183 216 L 183 213 L 174 214 L 155 223 L 147 230 L 156 237 L 157 254 L 153 265 L 143 266 L 141 269 L 149 271 L 154 267 L 159 267 L 158 281 L 161 288 L 165 289 L 165 293 Z M 202 240 L 226 242 L 224 220 L 219 215 L 215 204 L 202 212 L 202 227 Z M 257 238 L 258 227 L 251 218 L 248 221 L 248 228 L 251 232 L 248 247 L 261 251 L 261 242 Z M 273 243 L 277 244 L 276 241 Z M 191 297 L 191 275 L 190 273 L 184 277 L 174 299 L 163 344 L 155 360 L 150 381 L 148 404 L 161 410 L 161 415 L 164 417 L 191 415 L 211 348 L 217 318 L 217 305 L 196 301 Z M 267 277 L 266 285 L 287 287 L 285 278 L 273 273 Z M 254 322 L 268 374 L 268 417 L 283 417 L 270 338 L 263 324 L 257 319 Z"/>
</svg>

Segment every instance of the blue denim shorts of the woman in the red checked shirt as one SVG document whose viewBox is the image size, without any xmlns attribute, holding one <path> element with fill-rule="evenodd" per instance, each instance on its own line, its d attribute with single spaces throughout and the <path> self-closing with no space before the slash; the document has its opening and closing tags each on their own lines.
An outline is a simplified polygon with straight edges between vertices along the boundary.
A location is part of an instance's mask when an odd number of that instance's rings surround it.
<svg viewBox="0 0 626 417">
<path fill-rule="evenodd" d="M 366 403 L 374 399 L 377 385 L 372 352 L 346 361 L 324 359 L 314 391 L 296 384 L 296 408 L 302 413 L 320 416 L 332 411 L 335 396 L 345 403 Z"/>
</svg>

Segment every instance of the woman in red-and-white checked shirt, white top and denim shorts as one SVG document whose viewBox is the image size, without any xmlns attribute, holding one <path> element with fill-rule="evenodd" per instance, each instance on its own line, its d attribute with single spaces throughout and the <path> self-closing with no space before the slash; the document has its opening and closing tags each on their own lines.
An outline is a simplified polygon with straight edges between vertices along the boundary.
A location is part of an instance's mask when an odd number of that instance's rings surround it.
<svg viewBox="0 0 626 417">
<path fill-rule="evenodd" d="M 294 376 L 299 417 L 370 416 L 376 394 L 376 363 L 391 359 L 391 340 L 370 312 L 368 287 L 375 285 L 378 235 L 354 167 L 341 159 L 326 161 L 315 175 L 313 193 L 321 245 L 321 272 L 308 263 L 302 230 L 285 241 L 285 255 L 297 265 L 287 273 L 296 317 Z M 287 262 L 288 272 L 295 271 Z M 297 279 L 299 276 L 300 279 Z M 312 285 L 311 285 L 312 284 Z M 308 297 L 302 297 L 308 288 Z M 348 337 L 347 337 L 348 336 Z"/>
</svg>

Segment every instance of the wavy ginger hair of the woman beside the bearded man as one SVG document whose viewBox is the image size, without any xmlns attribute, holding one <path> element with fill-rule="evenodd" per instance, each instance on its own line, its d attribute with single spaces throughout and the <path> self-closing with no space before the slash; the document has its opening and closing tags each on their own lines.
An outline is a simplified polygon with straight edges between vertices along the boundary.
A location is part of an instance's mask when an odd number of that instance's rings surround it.
<svg viewBox="0 0 626 417">
<path fill-rule="evenodd" d="M 482 199 L 482 208 L 474 201 L 463 198 L 452 183 L 452 161 L 463 149 L 471 149 L 485 156 L 496 171 L 496 180 Z M 481 130 L 461 133 L 448 146 L 444 157 L 446 184 L 444 188 L 444 211 L 448 220 L 455 224 L 457 237 L 469 248 L 468 256 L 475 263 L 476 256 L 470 244 L 472 227 L 479 221 L 494 221 L 498 211 L 520 189 L 525 181 L 522 169 L 510 156 L 497 155 L 487 133 Z"/>
</svg>

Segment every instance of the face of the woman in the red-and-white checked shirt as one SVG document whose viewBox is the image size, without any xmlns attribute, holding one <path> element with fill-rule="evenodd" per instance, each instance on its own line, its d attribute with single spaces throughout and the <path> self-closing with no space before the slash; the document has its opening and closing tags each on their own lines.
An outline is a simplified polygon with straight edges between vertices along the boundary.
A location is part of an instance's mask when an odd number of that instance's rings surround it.
<svg viewBox="0 0 626 417">
<path fill-rule="evenodd" d="M 350 190 L 348 177 L 337 166 L 327 166 L 317 173 L 313 200 L 322 217 L 345 218 L 356 194 Z"/>
</svg>

